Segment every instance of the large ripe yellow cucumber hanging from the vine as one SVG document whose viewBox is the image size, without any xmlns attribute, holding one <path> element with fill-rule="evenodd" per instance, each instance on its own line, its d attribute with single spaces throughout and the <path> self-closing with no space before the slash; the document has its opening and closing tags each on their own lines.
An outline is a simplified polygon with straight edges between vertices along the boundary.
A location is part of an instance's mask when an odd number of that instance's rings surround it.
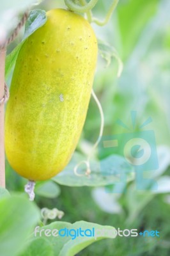
<svg viewBox="0 0 170 256">
<path fill-rule="evenodd" d="M 47 22 L 22 45 L 5 121 L 6 156 L 21 176 L 50 179 L 70 161 L 86 119 L 96 63 L 93 29 L 67 10 L 47 12 Z"/>
</svg>

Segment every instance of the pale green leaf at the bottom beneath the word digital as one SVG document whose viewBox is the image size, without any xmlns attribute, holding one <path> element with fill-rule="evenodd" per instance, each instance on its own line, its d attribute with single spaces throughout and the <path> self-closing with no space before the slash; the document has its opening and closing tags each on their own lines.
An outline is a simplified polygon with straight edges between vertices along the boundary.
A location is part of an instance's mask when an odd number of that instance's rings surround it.
<svg viewBox="0 0 170 256">
<path fill-rule="evenodd" d="M 111 226 L 102 226 L 102 225 L 98 225 L 95 223 L 88 223 L 86 221 L 77 221 L 73 224 L 71 223 L 67 223 L 67 222 L 62 222 L 62 221 L 56 221 L 54 223 L 51 223 L 50 225 L 44 226 L 42 228 L 40 228 L 39 230 L 43 230 L 41 232 L 41 236 L 45 237 L 47 239 L 47 236 L 45 236 L 44 231 L 45 230 L 60 230 L 63 228 L 67 228 L 67 229 L 79 229 L 81 228 L 82 230 L 86 230 L 86 229 L 90 229 L 92 230 L 92 228 L 95 228 L 95 234 L 97 235 L 97 229 L 100 230 L 100 234 L 98 232 L 98 236 L 94 237 L 94 236 L 78 236 L 75 239 L 73 239 L 72 236 L 49 236 L 48 240 L 50 242 L 50 244 L 52 244 L 53 248 L 54 248 L 54 255 L 55 256 L 73 256 L 76 255 L 76 253 L 81 252 L 82 249 L 86 248 L 87 246 L 89 246 L 89 244 L 95 243 L 96 241 L 99 241 L 101 239 L 105 239 L 105 238 L 115 238 L 116 234 L 115 234 L 115 228 L 111 227 Z M 103 230 L 103 231 L 102 231 Z M 63 231 L 65 232 L 65 231 Z M 38 237 L 38 234 L 40 236 L 40 233 L 38 232 L 36 234 L 36 236 Z M 73 233 L 72 233 L 73 234 Z M 88 232 L 89 234 L 89 232 Z M 36 239 L 35 234 L 33 234 L 33 239 Z M 31 242 L 34 243 L 34 241 Z M 35 253 L 33 254 L 29 254 L 29 256 L 34 256 Z M 25 256 L 25 254 L 23 255 Z M 27 256 L 27 255 L 26 255 Z"/>
</svg>

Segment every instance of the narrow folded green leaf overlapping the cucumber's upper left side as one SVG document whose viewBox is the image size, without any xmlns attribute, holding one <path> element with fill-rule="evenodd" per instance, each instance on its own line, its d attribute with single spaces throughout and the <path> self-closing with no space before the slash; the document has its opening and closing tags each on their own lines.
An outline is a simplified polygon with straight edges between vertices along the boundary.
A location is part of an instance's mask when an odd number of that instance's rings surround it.
<svg viewBox="0 0 170 256">
<path fill-rule="evenodd" d="M 46 13 L 43 10 L 33 10 L 30 12 L 29 18 L 26 22 L 26 29 L 24 33 L 24 39 L 20 42 L 17 47 L 6 57 L 6 67 L 5 67 L 5 76 L 8 77 L 12 71 L 13 66 L 17 60 L 20 48 L 26 41 L 26 39 L 33 34 L 36 29 L 40 28 L 47 21 Z"/>
</svg>

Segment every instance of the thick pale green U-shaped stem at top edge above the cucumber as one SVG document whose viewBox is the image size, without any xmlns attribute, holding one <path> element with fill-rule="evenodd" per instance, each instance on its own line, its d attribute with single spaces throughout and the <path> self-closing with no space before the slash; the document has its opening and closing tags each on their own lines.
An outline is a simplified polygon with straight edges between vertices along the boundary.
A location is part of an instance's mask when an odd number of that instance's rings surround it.
<svg viewBox="0 0 170 256">
<path fill-rule="evenodd" d="M 73 12 L 79 12 L 79 13 L 88 12 L 89 10 L 93 9 L 93 7 L 95 7 L 97 2 L 98 0 L 91 0 L 86 5 L 80 6 L 78 4 L 73 3 L 72 0 L 65 0 L 65 4 L 70 10 L 72 10 Z"/>
</svg>

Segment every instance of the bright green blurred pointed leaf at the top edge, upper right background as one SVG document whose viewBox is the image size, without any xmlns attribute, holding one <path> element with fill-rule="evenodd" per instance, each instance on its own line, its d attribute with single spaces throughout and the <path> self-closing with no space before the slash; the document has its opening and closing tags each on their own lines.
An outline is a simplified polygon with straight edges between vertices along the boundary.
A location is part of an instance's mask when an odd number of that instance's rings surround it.
<svg viewBox="0 0 170 256">
<path fill-rule="evenodd" d="M 123 59 L 134 49 L 144 26 L 157 12 L 158 0 L 127 0 L 118 4 Z"/>
</svg>

